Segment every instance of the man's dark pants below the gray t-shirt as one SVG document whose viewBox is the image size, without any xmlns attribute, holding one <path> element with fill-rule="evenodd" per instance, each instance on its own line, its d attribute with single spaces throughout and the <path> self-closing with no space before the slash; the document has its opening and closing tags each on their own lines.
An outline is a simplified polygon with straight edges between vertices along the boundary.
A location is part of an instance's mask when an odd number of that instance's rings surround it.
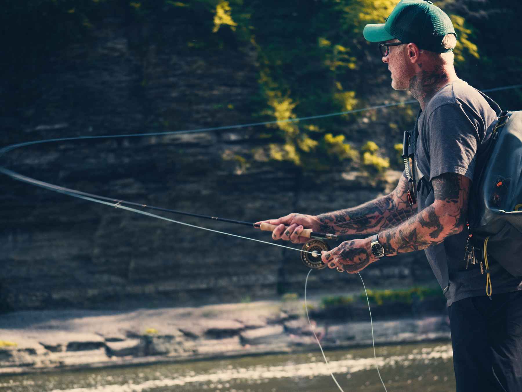
<svg viewBox="0 0 522 392">
<path fill-rule="evenodd" d="M 457 392 L 522 391 L 522 291 L 448 308 Z"/>
</svg>

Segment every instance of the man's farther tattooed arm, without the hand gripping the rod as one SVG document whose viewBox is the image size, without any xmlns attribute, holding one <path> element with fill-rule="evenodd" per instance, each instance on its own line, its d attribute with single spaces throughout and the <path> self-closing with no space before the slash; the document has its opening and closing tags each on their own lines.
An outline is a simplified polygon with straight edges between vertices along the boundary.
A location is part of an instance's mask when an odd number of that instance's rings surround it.
<svg viewBox="0 0 522 392">
<path fill-rule="evenodd" d="M 317 216 L 319 232 L 331 234 L 376 234 L 395 227 L 417 212 L 407 199 L 408 179 L 403 172 L 390 194 L 357 207 Z"/>
</svg>

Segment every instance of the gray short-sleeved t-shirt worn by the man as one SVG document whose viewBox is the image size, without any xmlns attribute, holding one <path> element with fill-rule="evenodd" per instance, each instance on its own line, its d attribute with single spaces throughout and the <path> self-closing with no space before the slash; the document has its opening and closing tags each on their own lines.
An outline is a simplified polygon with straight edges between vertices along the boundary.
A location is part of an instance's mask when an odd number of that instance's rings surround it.
<svg viewBox="0 0 522 392">
<path fill-rule="evenodd" d="M 497 117 L 484 97 L 463 80 L 444 86 L 428 102 L 417 121 L 416 160 L 430 181 L 444 173 L 473 179 L 477 156 L 488 142 Z M 418 211 L 434 202 L 433 190 L 419 186 Z M 466 269 L 464 259 L 468 230 L 450 236 L 442 244 L 425 249 L 426 257 L 447 298 L 448 306 L 459 299 L 485 295 L 486 275 L 479 264 Z M 493 294 L 522 290 L 522 279 L 491 261 Z"/>
</svg>

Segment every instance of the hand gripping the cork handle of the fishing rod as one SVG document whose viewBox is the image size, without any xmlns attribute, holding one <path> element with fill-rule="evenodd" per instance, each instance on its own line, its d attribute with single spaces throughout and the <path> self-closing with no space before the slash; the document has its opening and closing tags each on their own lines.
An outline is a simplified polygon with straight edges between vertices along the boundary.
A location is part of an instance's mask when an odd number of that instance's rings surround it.
<svg viewBox="0 0 522 392">
<path fill-rule="evenodd" d="M 310 241 L 310 238 L 300 236 L 305 228 L 312 229 L 314 232 L 319 231 L 319 221 L 313 215 L 288 214 L 279 219 L 269 219 L 256 222 L 255 224 L 259 223 L 277 225 L 272 232 L 272 238 L 292 241 L 294 244 L 303 244 L 306 241 Z M 287 229 L 285 229 L 286 226 L 288 226 Z"/>
</svg>

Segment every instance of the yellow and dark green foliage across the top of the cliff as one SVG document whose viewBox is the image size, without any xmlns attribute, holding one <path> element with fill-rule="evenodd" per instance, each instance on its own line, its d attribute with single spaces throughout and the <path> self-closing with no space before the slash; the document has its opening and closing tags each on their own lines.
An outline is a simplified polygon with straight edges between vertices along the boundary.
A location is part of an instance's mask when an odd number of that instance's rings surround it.
<svg viewBox="0 0 522 392">
<path fill-rule="evenodd" d="M 256 129 L 257 146 L 250 155 L 224 155 L 239 168 L 236 172 L 244 173 L 252 162 L 262 160 L 311 170 L 354 166 L 379 173 L 390 165 L 401 167 L 394 144 L 411 126 L 416 106 L 335 116 L 313 123 L 288 120 L 348 111 L 389 99 L 393 91 L 386 67 L 375 44 L 362 37 L 362 29 L 369 23 L 384 22 L 397 3 L 17 0 L 6 2 L 0 14 L 4 30 L 16 37 L 5 40 L 3 49 L 9 55 L 0 67 L 10 76 L 5 78 L 6 91 L 16 90 L 24 80 L 44 73 L 50 57 L 60 58 L 58 53 L 65 48 L 96 39 L 95 32 L 106 20 L 124 20 L 127 26 L 133 26 L 126 37 L 128 46 L 144 68 L 149 64 L 149 49 L 159 51 L 162 45 L 174 47 L 180 56 L 187 57 L 228 49 L 242 52 L 255 58 L 257 94 L 252 94 L 242 108 L 218 102 L 213 109 L 243 110 L 246 117 L 259 121 L 285 122 Z M 522 72 L 522 49 L 510 31 L 517 31 L 520 2 L 444 0 L 439 5 L 452 18 L 459 36 L 455 49 L 459 76 L 479 88 L 516 83 Z M 501 24 L 497 22 L 499 15 Z M 165 28 L 172 25 L 176 26 L 172 31 Z M 146 87 L 145 76 L 142 82 Z M 4 116 L 11 116 L 42 95 L 37 87 L 21 91 L 4 99 L 0 109 Z M 381 98 L 383 91 L 386 95 Z M 508 109 L 517 109 L 522 102 L 520 91 L 494 93 L 492 97 Z M 361 123 L 362 116 L 368 121 Z M 176 122 L 167 119 L 160 123 L 168 128 Z M 385 124 L 390 124 L 388 130 L 382 130 Z M 378 151 L 369 145 L 358 151 L 355 146 L 364 142 L 369 132 L 390 132 L 388 141 L 392 142 Z"/>
</svg>

